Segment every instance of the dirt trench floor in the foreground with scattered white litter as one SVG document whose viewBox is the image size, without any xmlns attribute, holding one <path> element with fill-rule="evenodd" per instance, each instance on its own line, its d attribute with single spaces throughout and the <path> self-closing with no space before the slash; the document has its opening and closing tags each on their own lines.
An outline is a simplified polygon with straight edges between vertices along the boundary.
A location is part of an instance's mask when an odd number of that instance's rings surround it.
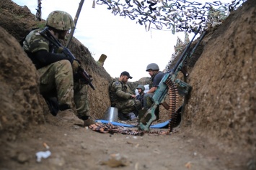
<svg viewBox="0 0 256 170">
<path fill-rule="evenodd" d="M 50 146 L 51 155 L 37 163 L 35 154 L 46 151 L 43 143 Z M 124 170 L 245 169 L 239 154 L 224 153 L 206 138 L 179 130 L 168 136 L 128 136 L 45 124 L 1 145 L 8 146 L 0 153 L 1 169 L 113 169 L 110 163 L 123 165 L 115 169 Z M 113 163 L 110 158 L 119 161 Z"/>
</svg>

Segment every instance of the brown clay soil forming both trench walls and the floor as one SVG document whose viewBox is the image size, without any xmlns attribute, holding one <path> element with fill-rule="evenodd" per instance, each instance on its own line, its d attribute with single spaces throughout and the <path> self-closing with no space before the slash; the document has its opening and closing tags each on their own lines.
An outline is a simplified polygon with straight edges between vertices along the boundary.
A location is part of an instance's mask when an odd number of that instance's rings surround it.
<svg viewBox="0 0 256 170">
<path fill-rule="evenodd" d="M 43 22 L 26 6 L 0 1 L 0 169 L 256 169 L 255 6 L 246 1 L 208 30 L 188 62 L 193 90 L 175 133 L 132 136 L 98 133 L 49 113 L 18 43 Z M 94 77 L 90 113 L 102 118 L 111 77 L 78 39 L 70 49 Z M 160 120 L 167 120 L 164 111 Z M 51 155 L 37 162 L 36 153 L 47 150 Z"/>
</svg>

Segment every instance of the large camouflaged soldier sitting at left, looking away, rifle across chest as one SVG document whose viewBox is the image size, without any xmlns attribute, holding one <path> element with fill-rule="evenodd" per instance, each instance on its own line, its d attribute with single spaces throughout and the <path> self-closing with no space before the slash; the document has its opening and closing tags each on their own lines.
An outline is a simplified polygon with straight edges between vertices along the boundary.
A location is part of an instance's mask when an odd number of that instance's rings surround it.
<svg viewBox="0 0 256 170">
<path fill-rule="evenodd" d="M 56 39 L 65 39 L 69 29 L 75 25 L 70 14 L 53 11 L 46 19 L 46 27 Z M 60 50 L 40 34 L 43 33 L 42 30 L 33 30 L 23 42 L 23 49 L 40 76 L 40 93 L 44 98 L 57 98 L 60 110 L 57 116 L 63 121 L 79 126 L 94 123 L 89 116 L 87 85 L 74 81 L 81 62 L 58 53 Z"/>
</svg>

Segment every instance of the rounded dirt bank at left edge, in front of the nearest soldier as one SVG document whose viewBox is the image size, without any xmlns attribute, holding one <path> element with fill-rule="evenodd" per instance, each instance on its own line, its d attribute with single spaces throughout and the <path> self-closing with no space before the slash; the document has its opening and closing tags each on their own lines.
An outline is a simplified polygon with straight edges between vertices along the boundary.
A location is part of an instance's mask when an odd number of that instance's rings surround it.
<svg viewBox="0 0 256 170">
<path fill-rule="evenodd" d="M 35 66 L 14 37 L 0 27 L 0 133 L 43 123 Z"/>
</svg>

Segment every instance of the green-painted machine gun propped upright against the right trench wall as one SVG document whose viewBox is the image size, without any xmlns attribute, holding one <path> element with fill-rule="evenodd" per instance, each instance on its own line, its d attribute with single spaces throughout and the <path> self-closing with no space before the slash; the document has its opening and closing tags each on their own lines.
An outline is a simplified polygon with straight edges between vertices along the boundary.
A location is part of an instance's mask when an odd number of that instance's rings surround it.
<svg viewBox="0 0 256 170">
<path fill-rule="evenodd" d="M 161 103 L 164 103 L 164 98 L 166 97 L 167 92 L 168 92 L 168 86 L 166 83 L 167 80 L 168 81 L 171 80 L 173 82 L 173 84 L 179 85 L 180 89 L 178 89 L 178 90 L 179 90 L 180 95 L 187 95 L 190 92 L 190 90 L 192 88 L 190 85 L 188 85 L 186 82 L 182 82 L 181 80 L 178 80 L 178 79 L 175 80 L 175 78 L 177 76 L 177 73 L 179 71 L 182 71 L 183 62 L 185 62 L 185 59 L 187 57 L 191 57 L 193 55 L 195 48 L 198 47 L 198 44 L 205 36 L 206 32 L 203 32 L 198 43 L 195 45 L 193 50 L 191 52 L 188 52 L 188 49 L 190 49 L 190 45 L 192 44 L 193 40 L 195 39 L 195 36 L 198 34 L 199 31 L 200 31 L 200 27 L 198 28 L 197 32 L 195 32 L 195 35 L 194 35 L 193 39 L 191 39 L 190 43 L 187 44 L 187 47 L 182 52 L 182 55 L 180 55 L 180 58 L 176 62 L 175 66 L 171 70 L 169 70 L 164 75 L 164 77 L 162 77 L 162 80 L 159 83 L 159 86 L 153 95 L 154 103 L 153 103 L 153 105 L 151 105 L 151 108 L 149 108 L 149 110 L 146 110 L 146 113 L 141 118 L 141 122 L 138 125 L 139 129 L 141 129 L 143 131 L 149 131 L 149 127 L 151 126 L 151 123 L 156 121 L 155 110 Z"/>
</svg>

